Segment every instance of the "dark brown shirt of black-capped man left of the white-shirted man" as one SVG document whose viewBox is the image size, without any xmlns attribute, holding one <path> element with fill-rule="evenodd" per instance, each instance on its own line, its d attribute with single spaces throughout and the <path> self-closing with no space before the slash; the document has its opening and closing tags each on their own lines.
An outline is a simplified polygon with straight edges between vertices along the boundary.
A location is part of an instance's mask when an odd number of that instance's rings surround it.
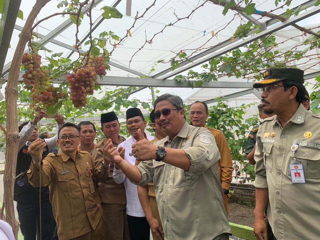
<svg viewBox="0 0 320 240">
<path fill-rule="evenodd" d="M 123 142 L 125 139 L 122 136 L 118 136 L 119 143 Z M 108 139 L 107 139 L 108 140 Z M 103 161 L 103 146 L 106 141 L 106 138 L 102 139 L 93 150 L 92 158 L 94 164 L 97 167 L 101 167 Z M 118 146 L 118 143 L 112 142 L 114 147 Z M 112 177 L 113 169 L 115 164 L 110 164 L 110 172 L 106 182 L 99 182 L 99 196 L 102 203 L 108 204 L 126 204 L 125 188 L 124 184 L 117 184 Z M 97 174 L 100 172 L 98 170 Z"/>
</svg>

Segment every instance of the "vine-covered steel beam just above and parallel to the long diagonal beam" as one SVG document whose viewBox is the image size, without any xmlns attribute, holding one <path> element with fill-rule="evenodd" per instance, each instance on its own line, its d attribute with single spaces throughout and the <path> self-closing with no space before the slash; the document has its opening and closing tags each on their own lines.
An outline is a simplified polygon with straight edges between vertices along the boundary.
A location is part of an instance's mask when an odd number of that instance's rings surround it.
<svg viewBox="0 0 320 240">
<path fill-rule="evenodd" d="M 301 4 L 301 5 L 302 5 L 302 6 L 306 6 L 306 9 L 307 9 L 307 8 L 309 8 L 309 7 L 314 6 L 315 3 L 316 3 L 316 0 L 310 0 L 310 1 L 305 2 L 304 4 Z M 299 7 L 299 6 L 298 6 L 298 7 Z M 293 11 L 296 10 L 296 9 L 298 9 L 298 7 L 293 8 Z M 285 12 L 281 13 L 280 15 L 282 15 L 282 14 L 284 14 L 284 13 L 285 13 Z M 270 20 L 267 20 L 267 21 L 266 21 L 266 26 L 268 27 L 268 26 L 273 25 L 273 24 L 278 23 L 278 22 L 279 22 L 279 20 L 277 20 L 277 19 L 270 19 Z M 253 34 L 255 31 L 257 31 L 257 28 L 254 29 L 254 31 L 253 31 L 253 30 L 250 31 L 250 32 L 248 33 L 248 35 Z M 226 46 L 228 46 L 228 45 L 230 45 L 230 44 L 233 44 L 233 43 L 237 42 L 238 40 L 240 40 L 240 39 L 237 38 L 237 37 L 235 37 L 235 38 L 234 38 L 234 42 L 232 42 L 232 40 L 229 38 L 228 40 L 225 40 L 225 41 L 223 41 L 223 42 L 221 42 L 221 43 L 213 46 L 212 48 L 209 48 L 209 49 L 207 49 L 207 50 L 204 50 L 203 52 L 201 52 L 201 53 L 199 53 L 199 54 L 197 54 L 197 55 L 191 56 L 191 57 L 189 58 L 189 60 L 194 61 L 194 60 L 197 60 L 197 59 L 199 59 L 199 58 L 202 58 L 202 57 L 204 57 L 204 56 L 206 56 L 206 55 L 208 55 L 208 54 L 210 54 L 210 53 L 212 53 L 212 52 L 218 51 L 218 50 L 220 50 L 221 48 L 224 48 L 224 47 L 226 47 Z M 244 45 L 244 44 L 243 44 L 243 45 Z M 184 60 L 184 61 L 180 62 L 180 63 L 179 63 L 179 68 L 182 67 L 182 66 L 184 66 L 184 65 L 187 65 L 188 63 L 189 63 L 189 61 L 187 61 L 187 60 Z M 177 68 L 177 69 L 179 69 L 179 68 Z M 169 73 L 169 72 L 171 72 L 171 71 L 172 71 L 172 68 L 167 68 L 167 69 L 165 69 L 165 70 L 163 70 L 163 71 L 161 71 L 161 72 L 153 75 L 152 77 L 153 77 L 153 78 L 157 78 L 157 77 L 163 76 L 164 74 Z"/>
</svg>

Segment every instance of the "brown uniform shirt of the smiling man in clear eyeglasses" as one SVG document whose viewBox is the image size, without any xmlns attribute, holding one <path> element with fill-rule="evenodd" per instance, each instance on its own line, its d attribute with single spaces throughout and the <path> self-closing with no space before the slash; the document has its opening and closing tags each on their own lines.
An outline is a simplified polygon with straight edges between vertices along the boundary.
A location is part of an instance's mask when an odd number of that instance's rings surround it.
<svg viewBox="0 0 320 240">
<path fill-rule="evenodd" d="M 91 193 L 88 170 L 93 170 L 94 178 L 94 164 L 88 152 L 77 151 L 76 159 L 73 160 L 60 151 L 58 154 L 49 153 L 40 169 L 31 163 L 27 172 L 33 187 L 39 187 L 40 181 L 41 187 L 49 184 L 50 202 L 60 240 L 90 232 L 91 227 L 95 229 L 101 219 L 102 208 L 97 206 Z"/>
</svg>

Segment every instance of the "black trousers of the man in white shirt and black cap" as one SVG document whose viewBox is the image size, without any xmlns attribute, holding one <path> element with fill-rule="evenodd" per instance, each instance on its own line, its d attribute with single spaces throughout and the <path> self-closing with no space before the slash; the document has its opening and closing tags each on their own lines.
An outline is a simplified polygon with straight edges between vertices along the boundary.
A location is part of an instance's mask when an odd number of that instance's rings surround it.
<svg viewBox="0 0 320 240">
<path fill-rule="evenodd" d="M 150 226 L 146 217 L 128 217 L 130 240 L 150 240 Z"/>
</svg>

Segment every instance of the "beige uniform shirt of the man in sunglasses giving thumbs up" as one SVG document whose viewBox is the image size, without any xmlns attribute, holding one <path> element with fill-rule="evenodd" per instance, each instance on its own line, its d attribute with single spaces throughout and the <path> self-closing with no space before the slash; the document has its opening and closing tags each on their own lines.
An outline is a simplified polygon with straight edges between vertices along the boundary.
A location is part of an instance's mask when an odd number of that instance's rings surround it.
<svg viewBox="0 0 320 240">
<path fill-rule="evenodd" d="M 211 132 L 186 122 L 173 140 L 166 137 L 154 144 L 181 148 L 191 162 L 189 171 L 155 160 L 137 166 L 139 185 L 154 181 L 164 238 L 212 240 L 230 233 L 218 178 L 220 154 Z"/>
</svg>

